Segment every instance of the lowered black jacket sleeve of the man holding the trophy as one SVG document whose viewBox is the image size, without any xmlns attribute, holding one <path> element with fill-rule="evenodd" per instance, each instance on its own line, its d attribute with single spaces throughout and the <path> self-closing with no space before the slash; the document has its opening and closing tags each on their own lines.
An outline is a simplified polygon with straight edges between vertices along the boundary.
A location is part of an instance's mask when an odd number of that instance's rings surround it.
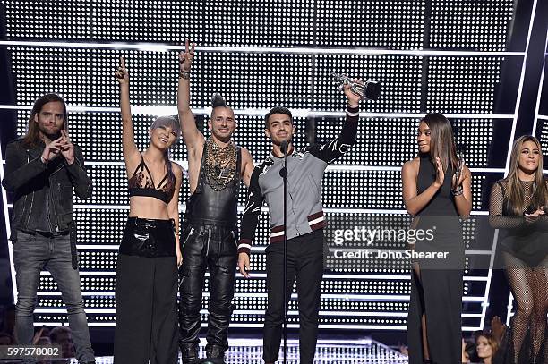
<svg viewBox="0 0 548 364">
<path fill-rule="evenodd" d="M 262 207 L 262 192 L 259 186 L 259 175 L 261 174 L 261 166 L 253 169 L 252 178 L 247 189 L 247 203 L 245 204 L 244 216 L 242 217 L 242 227 L 240 229 L 240 242 L 238 244 L 238 253 L 251 253 L 251 244 L 255 236 L 257 224 L 259 224 L 259 216 L 261 215 Z"/>
</svg>

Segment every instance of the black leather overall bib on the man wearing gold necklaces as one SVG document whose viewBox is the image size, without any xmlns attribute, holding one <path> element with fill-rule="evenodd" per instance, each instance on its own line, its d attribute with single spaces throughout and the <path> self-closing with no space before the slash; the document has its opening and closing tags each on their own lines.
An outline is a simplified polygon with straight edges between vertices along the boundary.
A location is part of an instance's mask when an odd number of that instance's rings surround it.
<svg viewBox="0 0 548 364">
<path fill-rule="evenodd" d="M 205 173 L 207 143 L 201 154 L 198 185 L 186 202 L 184 222 L 235 226 L 238 218 L 238 193 L 240 191 L 242 150 L 236 146 L 236 170 L 232 181 L 224 190 L 213 190 Z"/>
</svg>

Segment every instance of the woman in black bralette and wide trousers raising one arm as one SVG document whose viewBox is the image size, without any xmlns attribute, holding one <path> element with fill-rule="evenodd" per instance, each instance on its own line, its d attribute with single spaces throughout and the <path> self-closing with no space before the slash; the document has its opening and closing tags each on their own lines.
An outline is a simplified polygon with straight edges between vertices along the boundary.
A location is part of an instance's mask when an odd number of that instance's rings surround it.
<svg viewBox="0 0 548 364">
<path fill-rule="evenodd" d="M 169 158 L 181 127 L 160 116 L 149 145 L 135 143 L 129 72 L 124 58 L 115 72 L 120 86 L 122 150 L 128 177 L 129 216 L 116 260 L 116 364 L 172 364 L 177 347 L 179 192 L 183 169 Z"/>
</svg>

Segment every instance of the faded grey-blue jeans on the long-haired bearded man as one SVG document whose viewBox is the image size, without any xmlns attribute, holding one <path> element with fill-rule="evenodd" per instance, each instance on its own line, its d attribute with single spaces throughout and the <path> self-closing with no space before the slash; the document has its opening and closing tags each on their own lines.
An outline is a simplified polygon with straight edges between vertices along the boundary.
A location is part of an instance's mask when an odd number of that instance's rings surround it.
<svg viewBox="0 0 548 364">
<path fill-rule="evenodd" d="M 69 235 L 46 237 L 18 231 L 17 241 L 13 241 L 13 260 L 18 291 L 15 333 L 19 343 L 32 342 L 40 271 L 47 269 L 56 280 L 66 305 L 76 358 L 95 360 L 81 298 L 80 274 L 72 265 Z"/>
</svg>

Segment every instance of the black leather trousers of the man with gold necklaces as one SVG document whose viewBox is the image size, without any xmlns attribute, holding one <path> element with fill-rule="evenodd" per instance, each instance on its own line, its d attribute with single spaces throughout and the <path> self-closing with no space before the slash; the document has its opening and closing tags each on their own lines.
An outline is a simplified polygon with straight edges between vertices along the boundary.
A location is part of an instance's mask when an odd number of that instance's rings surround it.
<svg viewBox="0 0 548 364">
<path fill-rule="evenodd" d="M 181 241 L 179 344 L 183 349 L 200 342 L 201 292 L 208 268 L 211 295 L 206 350 L 217 346 L 227 351 L 237 264 L 235 226 L 186 223 Z"/>
</svg>

